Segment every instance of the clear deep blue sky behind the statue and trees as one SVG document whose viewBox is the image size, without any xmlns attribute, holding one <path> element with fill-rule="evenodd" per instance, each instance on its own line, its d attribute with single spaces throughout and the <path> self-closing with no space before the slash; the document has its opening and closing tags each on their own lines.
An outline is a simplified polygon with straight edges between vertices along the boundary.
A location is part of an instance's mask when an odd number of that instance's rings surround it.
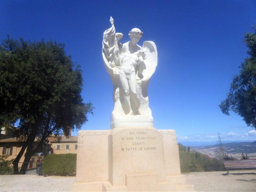
<svg viewBox="0 0 256 192">
<path fill-rule="evenodd" d="M 218 105 L 247 56 L 243 35 L 253 32 L 256 1 L 3 1 L 0 39 L 44 38 L 66 45 L 83 70 L 82 97 L 94 116 L 82 130 L 110 129 L 112 82 L 101 49 L 104 30 L 114 19 L 121 43 L 134 28 L 138 42 L 154 41 L 158 66 L 148 86 L 156 129 L 174 129 L 178 141 L 256 140 L 256 131 Z M 77 135 L 72 132 L 72 135 Z"/>
</svg>

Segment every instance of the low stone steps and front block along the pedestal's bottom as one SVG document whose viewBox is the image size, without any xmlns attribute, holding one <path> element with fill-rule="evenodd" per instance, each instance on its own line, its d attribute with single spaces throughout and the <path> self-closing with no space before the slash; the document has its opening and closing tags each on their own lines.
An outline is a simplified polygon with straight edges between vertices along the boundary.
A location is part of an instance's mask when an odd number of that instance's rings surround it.
<svg viewBox="0 0 256 192">
<path fill-rule="evenodd" d="M 112 185 L 109 181 L 74 183 L 71 191 L 194 191 L 193 185 L 186 185 L 185 175 L 167 176 L 158 182 L 157 173 L 125 175 L 125 185 Z"/>
</svg>

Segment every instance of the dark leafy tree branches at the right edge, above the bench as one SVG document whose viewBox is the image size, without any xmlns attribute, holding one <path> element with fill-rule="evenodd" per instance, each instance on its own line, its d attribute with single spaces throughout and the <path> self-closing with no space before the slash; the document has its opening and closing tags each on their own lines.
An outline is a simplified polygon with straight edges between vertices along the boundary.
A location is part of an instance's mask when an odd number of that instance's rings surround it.
<svg viewBox="0 0 256 192">
<path fill-rule="evenodd" d="M 256 27 L 253 28 L 254 33 L 244 35 L 248 57 L 241 63 L 240 74 L 234 76 L 227 98 L 219 107 L 226 115 L 234 111 L 256 129 Z"/>
</svg>

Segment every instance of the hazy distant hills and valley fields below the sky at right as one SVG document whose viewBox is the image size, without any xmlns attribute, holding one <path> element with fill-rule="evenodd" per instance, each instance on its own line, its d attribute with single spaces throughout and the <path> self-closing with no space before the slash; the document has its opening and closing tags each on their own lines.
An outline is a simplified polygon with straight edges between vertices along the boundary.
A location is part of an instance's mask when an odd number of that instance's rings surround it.
<svg viewBox="0 0 256 192">
<path fill-rule="evenodd" d="M 232 143 L 222 143 L 224 152 L 233 157 L 244 155 L 252 156 L 256 155 L 256 141 L 251 142 L 232 142 Z M 221 152 L 220 145 L 207 145 L 207 146 L 190 146 L 192 150 L 196 150 L 202 154 L 207 154 L 210 157 L 215 157 L 218 152 Z"/>
</svg>

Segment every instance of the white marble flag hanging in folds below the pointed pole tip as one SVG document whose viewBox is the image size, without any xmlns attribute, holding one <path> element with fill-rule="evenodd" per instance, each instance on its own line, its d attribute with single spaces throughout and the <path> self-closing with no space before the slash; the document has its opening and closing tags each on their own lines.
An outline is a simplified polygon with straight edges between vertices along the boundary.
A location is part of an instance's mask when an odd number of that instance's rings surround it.
<svg viewBox="0 0 256 192">
<path fill-rule="evenodd" d="M 113 61 L 113 51 L 116 45 L 115 27 L 112 25 L 111 28 L 105 30 L 103 33 L 102 57 L 108 73 L 113 71 L 114 74 L 119 74 L 120 66 L 116 66 Z"/>
</svg>

